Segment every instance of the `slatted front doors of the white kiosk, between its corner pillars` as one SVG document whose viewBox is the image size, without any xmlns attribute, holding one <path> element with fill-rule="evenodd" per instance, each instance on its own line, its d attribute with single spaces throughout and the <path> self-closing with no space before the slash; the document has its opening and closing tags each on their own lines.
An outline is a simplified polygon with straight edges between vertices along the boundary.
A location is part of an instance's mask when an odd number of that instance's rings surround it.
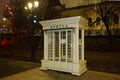
<svg viewBox="0 0 120 80">
<path fill-rule="evenodd" d="M 72 62 L 73 60 L 73 30 L 48 30 L 47 35 L 48 60 L 57 62 L 58 66 L 56 67 L 61 67 L 61 62 L 64 62 L 64 67 L 66 66 L 67 69 L 67 62 Z"/>
</svg>

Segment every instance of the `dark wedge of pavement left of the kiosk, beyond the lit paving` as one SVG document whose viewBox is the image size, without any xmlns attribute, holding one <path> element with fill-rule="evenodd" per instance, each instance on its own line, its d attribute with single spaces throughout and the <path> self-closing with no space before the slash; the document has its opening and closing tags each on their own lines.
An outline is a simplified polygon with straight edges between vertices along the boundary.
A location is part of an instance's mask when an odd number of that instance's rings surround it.
<svg viewBox="0 0 120 80">
<path fill-rule="evenodd" d="M 0 78 L 40 67 L 38 63 L 0 58 Z"/>
</svg>

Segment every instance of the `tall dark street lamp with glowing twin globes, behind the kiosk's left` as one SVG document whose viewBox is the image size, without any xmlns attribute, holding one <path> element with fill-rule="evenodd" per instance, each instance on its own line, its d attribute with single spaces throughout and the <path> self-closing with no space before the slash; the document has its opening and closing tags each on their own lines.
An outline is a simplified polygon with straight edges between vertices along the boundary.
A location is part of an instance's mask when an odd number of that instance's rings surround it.
<svg viewBox="0 0 120 80">
<path fill-rule="evenodd" d="M 28 19 L 30 21 L 30 26 L 32 27 L 32 38 L 31 38 L 31 60 L 35 60 L 35 41 L 34 41 L 34 24 L 37 23 L 37 15 L 34 14 L 33 10 L 39 6 L 38 1 L 29 2 L 27 7 L 30 10 Z"/>
</svg>

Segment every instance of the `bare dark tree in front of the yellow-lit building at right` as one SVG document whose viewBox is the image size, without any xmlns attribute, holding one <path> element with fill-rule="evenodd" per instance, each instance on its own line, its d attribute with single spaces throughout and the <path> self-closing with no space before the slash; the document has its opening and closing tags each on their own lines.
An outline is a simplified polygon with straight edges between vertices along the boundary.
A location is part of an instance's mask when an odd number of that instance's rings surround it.
<svg viewBox="0 0 120 80">
<path fill-rule="evenodd" d="M 120 13 L 119 5 L 119 1 L 101 0 L 100 3 L 96 3 L 92 6 L 92 10 L 100 17 L 100 19 L 96 19 L 93 24 L 102 20 L 106 27 L 108 36 L 111 36 L 110 26 L 114 23 L 114 15 Z"/>
</svg>

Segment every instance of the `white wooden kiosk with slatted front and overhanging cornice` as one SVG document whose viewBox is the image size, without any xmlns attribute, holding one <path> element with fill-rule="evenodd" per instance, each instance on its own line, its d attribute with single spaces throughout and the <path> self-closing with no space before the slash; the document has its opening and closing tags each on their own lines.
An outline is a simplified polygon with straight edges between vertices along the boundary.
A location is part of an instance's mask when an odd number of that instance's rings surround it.
<svg viewBox="0 0 120 80">
<path fill-rule="evenodd" d="M 42 70 L 57 70 L 81 75 L 86 68 L 84 60 L 84 27 L 80 17 L 40 21 L 44 30 L 44 59 Z"/>
</svg>

